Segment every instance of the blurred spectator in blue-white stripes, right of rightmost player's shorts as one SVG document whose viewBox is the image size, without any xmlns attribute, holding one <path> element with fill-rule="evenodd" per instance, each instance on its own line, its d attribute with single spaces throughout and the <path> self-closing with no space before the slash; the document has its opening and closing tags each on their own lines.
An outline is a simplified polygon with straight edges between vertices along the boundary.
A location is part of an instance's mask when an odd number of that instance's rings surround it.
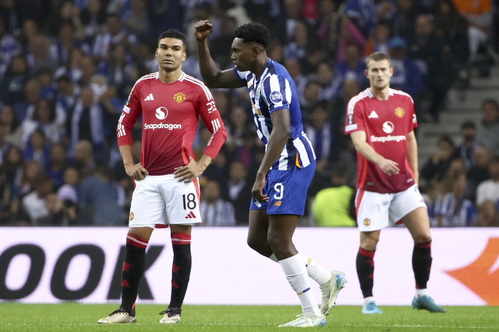
<svg viewBox="0 0 499 332">
<path fill-rule="evenodd" d="M 443 192 L 435 200 L 435 221 L 432 226 L 472 226 L 477 218 L 473 202 L 464 198 L 467 186 L 466 172 L 448 173 L 443 182 Z"/>
</svg>

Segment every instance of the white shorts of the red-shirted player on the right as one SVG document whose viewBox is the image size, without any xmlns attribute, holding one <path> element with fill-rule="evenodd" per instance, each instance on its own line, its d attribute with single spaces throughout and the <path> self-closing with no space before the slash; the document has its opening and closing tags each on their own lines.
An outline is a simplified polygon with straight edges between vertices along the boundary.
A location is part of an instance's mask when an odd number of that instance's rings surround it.
<svg viewBox="0 0 499 332">
<path fill-rule="evenodd" d="M 426 204 L 416 184 L 395 194 L 357 189 L 355 196 L 360 231 L 373 231 L 398 224 L 404 216 L 417 208 L 426 208 Z"/>
</svg>

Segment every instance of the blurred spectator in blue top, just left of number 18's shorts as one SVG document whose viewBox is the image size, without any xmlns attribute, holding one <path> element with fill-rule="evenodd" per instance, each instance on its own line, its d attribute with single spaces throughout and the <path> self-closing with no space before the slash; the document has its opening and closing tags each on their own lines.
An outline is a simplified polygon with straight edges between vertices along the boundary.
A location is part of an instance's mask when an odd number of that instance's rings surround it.
<svg viewBox="0 0 499 332">
<path fill-rule="evenodd" d="M 81 182 L 79 223 L 100 226 L 125 224 L 125 192 L 111 178 L 108 167 L 98 166 L 92 175 Z"/>
</svg>

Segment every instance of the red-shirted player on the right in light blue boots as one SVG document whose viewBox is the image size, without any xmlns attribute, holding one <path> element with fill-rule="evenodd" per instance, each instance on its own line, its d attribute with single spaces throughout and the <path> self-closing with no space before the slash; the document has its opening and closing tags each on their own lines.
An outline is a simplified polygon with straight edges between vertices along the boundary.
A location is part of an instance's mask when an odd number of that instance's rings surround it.
<svg viewBox="0 0 499 332">
<path fill-rule="evenodd" d="M 381 228 L 404 222 L 414 239 L 415 309 L 445 312 L 426 295 L 432 264 L 428 211 L 418 190 L 418 122 L 414 102 L 390 88 L 390 58 L 376 52 L 366 58 L 370 87 L 347 106 L 345 133 L 357 150 L 355 207 L 360 230 L 357 274 L 364 296 L 362 312 L 381 314 L 373 297 L 374 252 Z"/>
</svg>

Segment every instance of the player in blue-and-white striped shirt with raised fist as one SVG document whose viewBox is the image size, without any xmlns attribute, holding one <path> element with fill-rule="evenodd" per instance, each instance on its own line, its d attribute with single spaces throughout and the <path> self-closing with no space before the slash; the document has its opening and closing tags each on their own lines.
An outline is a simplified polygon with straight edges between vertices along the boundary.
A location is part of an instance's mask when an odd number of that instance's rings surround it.
<svg viewBox="0 0 499 332">
<path fill-rule="evenodd" d="M 334 306 L 347 278 L 298 252 L 292 242 L 315 173 L 315 154 L 303 131 L 293 79 L 282 65 L 268 58 L 265 48 L 269 33 L 265 26 L 248 23 L 234 31 L 232 60 L 236 68 L 224 71 L 216 67 L 208 49 L 212 24 L 201 20 L 195 29 L 199 66 L 206 84 L 213 88 L 248 88 L 256 132 L 265 144 L 251 190 L 248 244 L 279 262 L 298 295 L 302 314 L 281 326 L 324 326 L 324 315 Z M 321 287 L 320 310 L 308 276 Z"/>
</svg>

